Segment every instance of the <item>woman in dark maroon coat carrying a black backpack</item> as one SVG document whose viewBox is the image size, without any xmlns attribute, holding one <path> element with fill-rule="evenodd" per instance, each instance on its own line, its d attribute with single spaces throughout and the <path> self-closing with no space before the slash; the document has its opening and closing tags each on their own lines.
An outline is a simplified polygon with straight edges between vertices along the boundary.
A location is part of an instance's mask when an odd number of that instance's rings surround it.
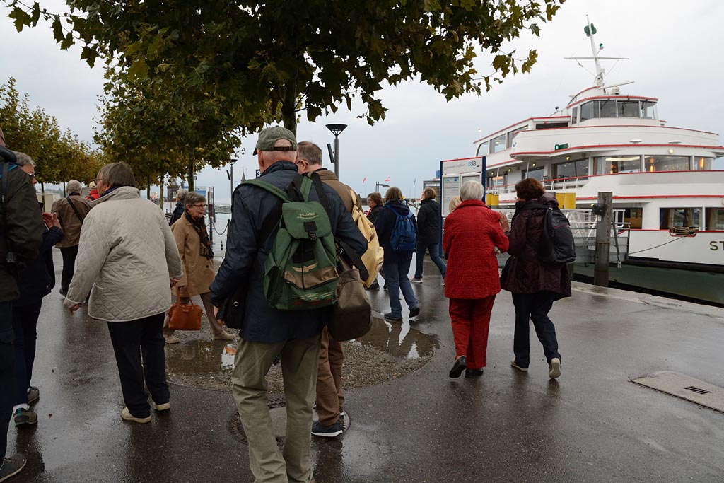
<svg viewBox="0 0 724 483">
<path fill-rule="evenodd" d="M 560 377 L 561 356 L 555 326 L 548 317 L 553 302 L 571 296 L 571 276 L 565 264 L 544 263 L 538 247 L 543 236 L 547 209 L 558 208 L 552 193 L 545 193 L 541 182 L 526 178 L 515 185 L 518 202 L 510 232 L 510 259 L 500 276 L 503 289 L 513 293 L 515 306 L 515 336 L 510 365 L 528 371 L 530 363 L 529 321 L 533 321 L 538 340 L 548 361 L 548 377 Z M 542 206 L 541 206 L 542 205 Z"/>
</svg>

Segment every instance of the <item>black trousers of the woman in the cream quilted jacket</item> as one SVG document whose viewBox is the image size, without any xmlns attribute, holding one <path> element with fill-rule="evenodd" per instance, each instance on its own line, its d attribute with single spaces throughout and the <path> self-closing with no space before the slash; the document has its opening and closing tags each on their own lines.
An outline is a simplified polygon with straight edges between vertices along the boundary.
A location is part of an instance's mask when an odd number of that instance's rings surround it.
<svg viewBox="0 0 724 483">
<path fill-rule="evenodd" d="M 168 403 L 171 398 L 166 383 L 166 341 L 161 332 L 163 327 L 164 314 L 129 322 L 108 323 L 121 378 L 123 400 L 128 411 L 137 418 L 151 415 L 148 395 L 143 390 L 144 381 L 156 404 Z"/>
</svg>

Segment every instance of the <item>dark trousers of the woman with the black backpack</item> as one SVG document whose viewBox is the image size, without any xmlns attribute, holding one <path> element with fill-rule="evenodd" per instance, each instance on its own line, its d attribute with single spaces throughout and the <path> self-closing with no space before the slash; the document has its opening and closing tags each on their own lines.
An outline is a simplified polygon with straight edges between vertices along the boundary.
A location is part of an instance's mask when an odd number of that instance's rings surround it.
<svg viewBox="0 0 724 483">
<path fill-rule="evenodd" d="M 533 321 L 533 327 L 543 345 L 543 353 L 548 364 L 554 357 L 561 358 L 558 353 L 558 340 L 555 338 L 555 326 L 548 318 L 554 298 L 555 294 L 551 292 L 513 293 L 513 306 L 515 306 L 513 352 L 518 366 L 528 367 L 530 364 L 529 320 Z"/>
</svg>

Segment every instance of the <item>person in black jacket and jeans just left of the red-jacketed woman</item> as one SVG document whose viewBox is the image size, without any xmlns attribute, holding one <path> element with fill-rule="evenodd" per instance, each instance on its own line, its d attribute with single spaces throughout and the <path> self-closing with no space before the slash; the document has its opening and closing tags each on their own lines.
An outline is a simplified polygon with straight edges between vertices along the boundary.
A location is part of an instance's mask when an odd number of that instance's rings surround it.
<svg viewBox="0 0 724 483">
<path fill-rule="evenodd" d="M 422 261 L 425 252 L 430 251 L 432 263 L 442 275 L 445 285 L 445 262 L 440 258 L 440 206 L 435 201 L 437 193 L 432 188 L 422 192 L 422 203 L 417 212 L 417 255 L 415 259 L 415 277 L 411 282 L 422 283 Z"/>
</svg>

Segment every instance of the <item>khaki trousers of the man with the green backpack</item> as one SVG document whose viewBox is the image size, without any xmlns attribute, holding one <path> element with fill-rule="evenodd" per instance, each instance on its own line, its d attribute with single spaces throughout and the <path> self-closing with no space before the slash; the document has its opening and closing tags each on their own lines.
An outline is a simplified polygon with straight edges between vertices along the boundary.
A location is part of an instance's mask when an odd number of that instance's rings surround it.
<svg viewBox="0 0 724 483">
<path fill-rule="evenodd" d="M 255 483 L 308 483 L 312 405 L 321 336 L 264 344 L 240 340 L 232 374 L 232 394 L 249 441 Z M 269 414 L 266 373 L 282 354 L 287 432 L 279 451 Z"/>
</svg>

